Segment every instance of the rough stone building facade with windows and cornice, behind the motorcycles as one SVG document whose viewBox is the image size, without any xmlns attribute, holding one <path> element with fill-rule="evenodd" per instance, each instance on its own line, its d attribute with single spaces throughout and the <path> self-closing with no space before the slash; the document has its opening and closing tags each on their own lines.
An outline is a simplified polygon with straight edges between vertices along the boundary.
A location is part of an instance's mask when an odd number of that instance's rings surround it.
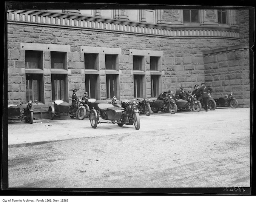
<svg viewBox="0 0 256 202">
<path fill-rule="evenodd" d="M 8 103 L 157 97 L 206 82 L 250 104 L 249 10 L 8 10 Z"/>
</svg>

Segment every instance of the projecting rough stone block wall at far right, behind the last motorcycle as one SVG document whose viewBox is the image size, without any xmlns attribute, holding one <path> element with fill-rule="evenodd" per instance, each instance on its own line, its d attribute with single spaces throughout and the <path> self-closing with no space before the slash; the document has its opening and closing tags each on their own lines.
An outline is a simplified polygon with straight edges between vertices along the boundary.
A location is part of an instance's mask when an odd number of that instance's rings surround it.
<svg viewBox="0 0 256 202">
<path fill-rule="evenodd" d="M 213 88 L 213 97 L 233 92 L 240 107 L 250 106 L 249 48 L 236 45 L 203 51 L 205 82 Z"/>
</svg>

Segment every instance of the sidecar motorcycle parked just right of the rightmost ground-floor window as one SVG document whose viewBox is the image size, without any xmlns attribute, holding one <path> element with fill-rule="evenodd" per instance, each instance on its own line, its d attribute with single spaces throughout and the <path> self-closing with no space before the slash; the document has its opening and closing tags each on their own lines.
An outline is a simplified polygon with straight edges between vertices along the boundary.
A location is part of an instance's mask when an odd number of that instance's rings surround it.
<svg viewBox="0 0 256 202">
<path fill-rule="evenodd" d="M 150 102 L 150 106 L 154 113 L 163 111 L 175 114 L 177 112 L 177 104 L 174 102 L 173 96 L 170 94 L 163 99 L 156 99 L 154 102 Z"/>
</svg>

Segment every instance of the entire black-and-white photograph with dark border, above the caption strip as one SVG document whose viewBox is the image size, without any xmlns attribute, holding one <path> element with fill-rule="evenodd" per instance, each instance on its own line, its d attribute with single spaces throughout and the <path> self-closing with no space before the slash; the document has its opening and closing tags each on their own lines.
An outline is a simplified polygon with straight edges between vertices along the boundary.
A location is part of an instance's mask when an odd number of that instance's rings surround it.
<svg viewBox="0 0 256 202">
<path fill-rule="evenodd" d="M 6 2 L 6 189 L 250 195 L 254 12 Z"/>
</svg>

